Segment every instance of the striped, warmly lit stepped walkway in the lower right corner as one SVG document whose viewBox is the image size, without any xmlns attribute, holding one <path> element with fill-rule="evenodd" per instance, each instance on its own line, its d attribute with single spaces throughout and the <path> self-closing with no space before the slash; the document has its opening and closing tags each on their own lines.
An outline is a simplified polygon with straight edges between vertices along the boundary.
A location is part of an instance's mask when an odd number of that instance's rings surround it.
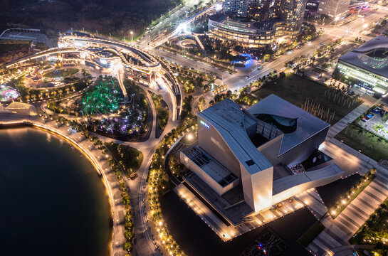
<svg viewBox="0 0 388 256">
<path fill-rule="evenodd" d="M 333 220 L 330 215 L 326 215 L 321 220 L 325 230 L 308 245 L 307 249 L 313 255 L 325 255 L 325 252 L 335 247 L 349 245 L 348 240 L 387 197 L 388 171 L 379 168 L 376 178 L 345 210 L 342 210 L 337 218 Z"/>
</svg>

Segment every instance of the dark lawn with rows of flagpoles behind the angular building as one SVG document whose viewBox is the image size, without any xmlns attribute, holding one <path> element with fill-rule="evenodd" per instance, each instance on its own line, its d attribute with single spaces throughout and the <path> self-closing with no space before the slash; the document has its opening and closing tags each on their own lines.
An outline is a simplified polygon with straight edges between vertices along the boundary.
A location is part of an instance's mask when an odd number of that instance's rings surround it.
<svg viewBox="0 0 388 256">
<path fill-rule="evenodd" d="M 264 85 L 255 92 L 259 98 L 275 94 L 330 124 L 345 117 L 362 101 L 345 95 L 339 89 L 321 85 L 298 75 L 288 75 Z"/>
</svg>

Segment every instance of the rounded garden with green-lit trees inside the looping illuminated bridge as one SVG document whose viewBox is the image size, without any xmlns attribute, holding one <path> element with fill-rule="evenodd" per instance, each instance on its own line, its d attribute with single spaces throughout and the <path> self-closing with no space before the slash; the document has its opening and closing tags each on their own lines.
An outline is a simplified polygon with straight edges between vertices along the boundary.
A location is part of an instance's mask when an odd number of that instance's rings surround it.
<svg viewBox="0 0 388 256">
<path fill-rule="evenodd" d="M 121 139 L 139 139 L 142 134 L 145 134 L 149 129 L 145 92 L 134 82 L 125 80 L 129 102 L 124 104 L 119 102 L 118 95 L 122 97 L 122 92 L 117 80 L 111 77 L 103 80 L 98 78 L 96 83 L 98 88 L 91 90 L 90 94 L 87 92 L 79 104 L 80 112 L 85 110 L 85 105 L 88 105 L 87 113 L 92 114 L 86 121 L 89 129 L 105 136 Z M 83 104 L 84 102 L 89 104 Z M 96 114 L 100 114 L 100 117 L 95 117 Z"/>
</svg>

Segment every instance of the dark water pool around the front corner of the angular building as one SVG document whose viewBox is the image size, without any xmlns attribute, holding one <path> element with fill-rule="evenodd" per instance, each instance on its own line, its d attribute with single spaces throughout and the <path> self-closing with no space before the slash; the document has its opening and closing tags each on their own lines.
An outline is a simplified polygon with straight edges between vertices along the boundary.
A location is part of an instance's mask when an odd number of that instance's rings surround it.
<svg viewBox="0 0 388 256">
<path fill-rule="evenodd" d="M 310 255 L 297 242 L 316 221 L 314 215 L 306 208 L 285 215 L 230 242 L 223 242 L 174 191 L 162 196 L 160 203 L 172 237 L 188 256 L 238 256 L 267 226 L 288 243 L 287 249 L 279 256 Z"/>
</svg>

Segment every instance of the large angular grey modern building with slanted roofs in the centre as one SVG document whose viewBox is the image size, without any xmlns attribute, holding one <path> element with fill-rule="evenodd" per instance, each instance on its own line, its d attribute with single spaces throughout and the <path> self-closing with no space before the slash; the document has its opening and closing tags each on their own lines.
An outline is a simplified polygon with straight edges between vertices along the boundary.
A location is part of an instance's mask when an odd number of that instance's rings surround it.
<svg viewBox="0 0 388 256">
<path fill-rule="evenodd" d="M 180 153 L 184 179 L 233 225 L 343 174 L 318 151 L 330 124 L 276 95 L 248 110 L 226 99 L 197 120 L 198 144 Z"/>
</svg>

